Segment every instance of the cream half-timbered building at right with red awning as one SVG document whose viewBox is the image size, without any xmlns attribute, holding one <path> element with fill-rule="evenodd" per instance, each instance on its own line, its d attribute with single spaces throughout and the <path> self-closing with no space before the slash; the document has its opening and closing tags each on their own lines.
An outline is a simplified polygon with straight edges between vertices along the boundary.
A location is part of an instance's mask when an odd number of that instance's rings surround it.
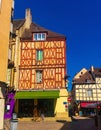
<svg viewBox="0 0 101 130">
<path fill-rule="evenodd" d="M 101 68 L 83 68 L 73 79 L 72 95 L 83 115 L 96 114 L 101 104 Z"/>
</svg>

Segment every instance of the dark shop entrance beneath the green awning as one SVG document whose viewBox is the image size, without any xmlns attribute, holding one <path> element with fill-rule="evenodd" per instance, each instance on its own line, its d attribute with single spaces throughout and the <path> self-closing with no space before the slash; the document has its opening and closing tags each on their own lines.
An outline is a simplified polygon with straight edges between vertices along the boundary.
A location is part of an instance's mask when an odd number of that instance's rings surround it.
<svg viewBox="0 0 101 130">
<path fill-rule="evenodd" d="M 18 117 L 53 117 L 54 99 L 21 99 L 18 105 Z"/>
</svg>

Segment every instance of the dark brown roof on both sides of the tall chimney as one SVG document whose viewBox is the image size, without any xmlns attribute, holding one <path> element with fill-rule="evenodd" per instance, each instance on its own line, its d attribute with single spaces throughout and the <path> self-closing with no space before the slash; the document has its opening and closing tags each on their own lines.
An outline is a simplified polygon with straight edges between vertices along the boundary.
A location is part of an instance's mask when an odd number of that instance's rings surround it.
<svg viewBox="0 0 101 130">
<path fill-rule="evenodd" d="M 13 26 L 14 26 L 14 33 L 16 30 L 20 29 L 20 27 L 25 23 L 25 20 L 14 20 Z M 21 38 L 22 39 L 32 39 L 32 33 L 38 33 L 38 32 L 46 32 L 47 33 L 47 38 L 56 38 L 56 37 L 61 37 L 61 38 L 66 38 L 64 35 L 50 31 L 34 22 L 31 23 L 29 29 L 25 29 Z"/>
</svg>

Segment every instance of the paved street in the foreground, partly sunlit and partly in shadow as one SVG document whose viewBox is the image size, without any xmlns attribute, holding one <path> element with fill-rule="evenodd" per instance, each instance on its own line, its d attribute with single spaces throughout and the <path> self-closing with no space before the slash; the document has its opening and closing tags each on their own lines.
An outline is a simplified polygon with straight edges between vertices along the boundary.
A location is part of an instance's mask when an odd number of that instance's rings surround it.
<svg viewBox="0 0 101 130">
<path fill-rule="evenodd" d="M 5 130 L 10 130 L 9 121 L 5 121 Z M 76 118 L 72 122 L 57 121 L 19 121 L 17 130 L 97 130 L 93 119 Z"/>
</svg>

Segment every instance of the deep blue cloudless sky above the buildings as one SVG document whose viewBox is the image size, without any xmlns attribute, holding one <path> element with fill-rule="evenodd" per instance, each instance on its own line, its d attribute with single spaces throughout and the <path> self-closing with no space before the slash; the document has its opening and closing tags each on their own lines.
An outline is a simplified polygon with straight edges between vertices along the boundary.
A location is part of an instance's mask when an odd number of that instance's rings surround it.
<svg viewBox="0 0 101 130">
<path fill-rule="evenodd" d="M 33 22 L 66 36 L 69 90 L 82 68 L 101 68 L 101 0 L 15 0 L 14 19 L 31 9 Z"/>
</svg>

